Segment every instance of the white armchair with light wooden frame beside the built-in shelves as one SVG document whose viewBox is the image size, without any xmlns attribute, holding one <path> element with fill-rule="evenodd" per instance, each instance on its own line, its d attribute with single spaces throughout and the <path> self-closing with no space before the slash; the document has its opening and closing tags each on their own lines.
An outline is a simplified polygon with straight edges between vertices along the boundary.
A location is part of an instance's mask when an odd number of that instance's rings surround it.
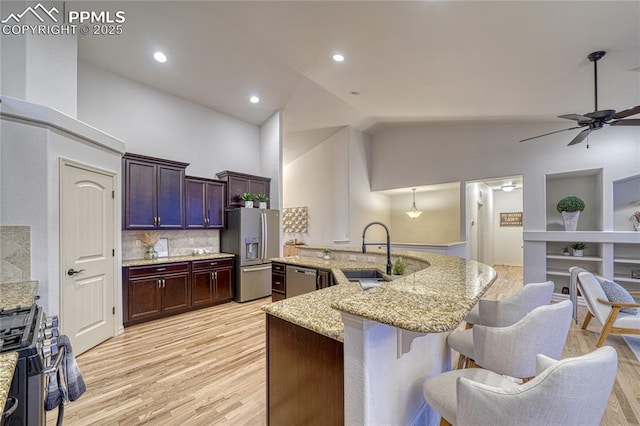
<svg viewBox="0 0 640 426">
<path fill-rule="evenodd" d="M 596 347 L 602 346 L 609 334 L 640 334 L 640 304 L 609 302 L 600 278 L 591 272 L 578 273 L 578 289 L 587 303 L 587 315 L 584 317 L 582 329 L 586 330 L 591 318 L 595 317 L 602 324 Z M 630 292 L 638 295 L 638 292 Z M 635 315 L 620 312 L 621 308 L 639 308 Z"/>
</svg>

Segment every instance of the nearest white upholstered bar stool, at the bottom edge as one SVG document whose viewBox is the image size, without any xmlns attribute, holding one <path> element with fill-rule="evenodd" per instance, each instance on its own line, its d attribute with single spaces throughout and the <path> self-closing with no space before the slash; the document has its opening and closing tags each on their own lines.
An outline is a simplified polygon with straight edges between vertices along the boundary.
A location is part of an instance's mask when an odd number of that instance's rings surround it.
<svg viewBox="0 0 640 426">
<path fill-rule="evenodd" d="M 441 425 L 600 424 L 618 369 L 612 347 L 561 361 L 538 355 L 536 364 L 538 374 L 523 384 L 479 368 L 442 373 L 424 382 L 424 398 Z"/>
</svg>

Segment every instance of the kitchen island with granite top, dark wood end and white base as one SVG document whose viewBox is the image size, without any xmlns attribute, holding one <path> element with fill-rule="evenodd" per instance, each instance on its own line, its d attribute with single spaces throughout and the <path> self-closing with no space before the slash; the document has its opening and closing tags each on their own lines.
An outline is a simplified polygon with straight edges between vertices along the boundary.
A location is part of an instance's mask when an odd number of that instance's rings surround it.
<svg viewBox="0 0 640 426">
<path fill-rule="evenodd" d="M 422 398 L 422 383 L 450 368 L 446 337 L 494 282 L 495 271 L 452 256 L 393 252 L 413 272 L 363 290 L 342 270 L 384 271 L 384 262 L 345 260 L 352 253 L 361 255 L 334 248 L 328 261 L 272 259 L 329 269 L 338 285 L 263 307 L 271 424 L 292 416 L 323 424 L 437 421 Z"/>
</svg>

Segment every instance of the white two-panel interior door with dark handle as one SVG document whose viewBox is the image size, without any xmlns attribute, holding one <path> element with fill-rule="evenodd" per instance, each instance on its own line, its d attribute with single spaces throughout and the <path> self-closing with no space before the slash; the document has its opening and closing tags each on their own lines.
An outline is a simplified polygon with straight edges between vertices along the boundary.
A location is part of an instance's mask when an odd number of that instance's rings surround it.
<svg viewBox="0 0 640 426">
<path fill-rule="evenodd" d="M 114 335 L 115 181 L 61 162 L 60 325 L 76 354 Z"/>
</svg>

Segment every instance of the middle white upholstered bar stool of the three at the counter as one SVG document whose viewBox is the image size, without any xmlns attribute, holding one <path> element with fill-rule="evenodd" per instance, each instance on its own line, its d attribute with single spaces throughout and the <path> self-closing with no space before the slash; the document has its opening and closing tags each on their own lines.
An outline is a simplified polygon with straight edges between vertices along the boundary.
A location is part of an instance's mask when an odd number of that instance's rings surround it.
<svg viewBox="0 0 640 426">
<path fill-rule="evenodd" d="M 526 380 L 535 374 L 536 355 L 560 358 L 572 311 L 570 300 L 539 306 L 513 325 L 476 325 L 450 334 L 447 343 L 480 367 Z"/>
</svg>

